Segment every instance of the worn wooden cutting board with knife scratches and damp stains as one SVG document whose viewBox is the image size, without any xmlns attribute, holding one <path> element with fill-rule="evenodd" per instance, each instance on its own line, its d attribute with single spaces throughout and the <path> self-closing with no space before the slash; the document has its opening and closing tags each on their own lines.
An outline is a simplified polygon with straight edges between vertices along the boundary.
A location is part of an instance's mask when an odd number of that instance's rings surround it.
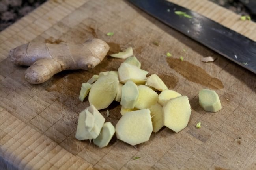
<svg viewBox="0 0 256 170">
<path fill-rule="evenodd" d="M 256 41 L 256 24 L 227 9 L 207 0 L 172 1 Z M 110 31 L 112 37 L 106 35 Z M 132 46 L 142 69 L 187 95 L 192 108 L 188 126 L 179 133 L 163 128 L 137 146 L 116 137 L 102 149 L 80 142 L 74 137 L 78 113 L 89 105 L 87 98 L 78 100 L 81 83 L 93 74 L 117 70 L 123 60 L 106 57 L 90 71 L 64 71 L 31 85 L 24 79 L 27 67 L 8 58 L 10 49 L 29 41 L 81 43 L 93 37 L 108 42 L 111 53 Z M 200 61 L 207 56 L 217 60 Z M 201 88 L 219 94 L 221 111 L 202 110 Z M 256 169 L 255 89 L 255 74 L 126 1 L 49 0 L 0 33 L 0 169 Z M 110 116 L 107 109 L 101 113 L 116 125 L 120 109 L 114 102 Z M 196 129 L 199 121 L 202 128 Z"/>
</svg>

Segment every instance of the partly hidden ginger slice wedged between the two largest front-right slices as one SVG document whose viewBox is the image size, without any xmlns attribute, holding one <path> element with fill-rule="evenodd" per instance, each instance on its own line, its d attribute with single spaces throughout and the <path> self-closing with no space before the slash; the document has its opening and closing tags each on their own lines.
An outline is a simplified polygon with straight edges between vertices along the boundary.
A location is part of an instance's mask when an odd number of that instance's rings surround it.
<svg viewBox="0 0 256 170">
<path fill-rule="evenodd" d="M 153 132 L 158 132 L 164 126 L 162 106 L 156 103 L 152 105 L 149 110 L 153 123 Z"/>
</svg>

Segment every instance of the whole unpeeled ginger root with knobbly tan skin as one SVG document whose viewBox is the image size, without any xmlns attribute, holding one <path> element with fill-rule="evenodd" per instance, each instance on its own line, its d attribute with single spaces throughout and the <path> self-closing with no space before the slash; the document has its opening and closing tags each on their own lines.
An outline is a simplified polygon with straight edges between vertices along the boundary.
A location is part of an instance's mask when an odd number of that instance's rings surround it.
<svg viewBox="0 0 256 170">
<path fill-rule="evenodd" d="M 25 79 L 40 84 L 62 70 L 88 70 L 107 55 L 109 46 L 101 39 L 83 44 L 47 44 L 30 42 L 10 50 L 9 57 L 16 65 L 30 66 Z"/>
</svg>

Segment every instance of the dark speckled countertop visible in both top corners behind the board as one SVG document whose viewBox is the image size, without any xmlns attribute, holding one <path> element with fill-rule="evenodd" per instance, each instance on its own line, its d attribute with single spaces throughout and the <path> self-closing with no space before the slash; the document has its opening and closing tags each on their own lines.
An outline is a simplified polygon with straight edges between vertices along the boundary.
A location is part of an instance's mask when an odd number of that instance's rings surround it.
<svg viewBox="0 0 256 170">
<path fill-rule="evenodd" d="M 0 0 L 0 31 L 19 20 L 46 0 Z M 246 0 L 211 0 L 239 15 L 251 15 L 250 10 L 243 5 Z M 248 0 L 247 0 L 248 1 Z M 256 1 L 256 0 L 255 0 Z M 255 15 L 251 15 L 256 21 Z"/>
</svg>

